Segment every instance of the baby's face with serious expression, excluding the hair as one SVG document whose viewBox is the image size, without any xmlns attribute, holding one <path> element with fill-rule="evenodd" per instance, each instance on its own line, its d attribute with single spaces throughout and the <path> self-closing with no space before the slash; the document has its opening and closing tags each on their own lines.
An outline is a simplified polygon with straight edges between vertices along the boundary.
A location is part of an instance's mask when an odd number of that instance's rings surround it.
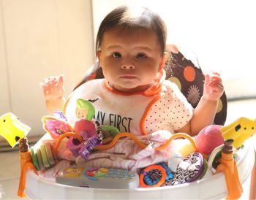
<svg viewBox="0 0 256 200">
<path fill-rule="evenodd" d="M 164 65 L 157 35 L 144 29 L 107 31 L 98 56 L 110 86 L 124 93 L 150 88 Z"/>
</svg>

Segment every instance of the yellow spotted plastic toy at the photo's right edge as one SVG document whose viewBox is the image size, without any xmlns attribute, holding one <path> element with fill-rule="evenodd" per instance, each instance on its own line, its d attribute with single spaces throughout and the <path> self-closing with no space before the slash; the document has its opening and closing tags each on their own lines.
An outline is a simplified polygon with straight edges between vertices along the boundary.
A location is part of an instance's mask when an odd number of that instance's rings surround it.
<svg viewBox="0 0 256 200">
<path fill-rule="evenodd" d="M 220 128 L 223 139 L 233 139 L 233 147 L 238 149 L 243 145 L 246 139 L 256 134 L 256 119 L 238 118 L 238 120 L 230 123 L 228 126 Z"/>
</svg>

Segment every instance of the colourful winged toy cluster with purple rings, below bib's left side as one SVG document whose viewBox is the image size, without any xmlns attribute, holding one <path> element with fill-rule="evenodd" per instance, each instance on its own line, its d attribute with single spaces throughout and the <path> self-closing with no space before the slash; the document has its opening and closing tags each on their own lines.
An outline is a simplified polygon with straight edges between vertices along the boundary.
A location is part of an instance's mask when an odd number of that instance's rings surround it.
<svg viewBox="0 0 256 200">
<path fill-rule="evenodd" d="M 76 106 L 75 113 L 78 120 L 74 125 L 67 122 L 63 113 L 55 112 L 60 118 L 42 117 L 43 128 L 53 139 L 57 139 L 53 153 L 58 149 L 61 140 L 69 137 L 68 149 L 73 155 L 81 155 L 87 160 L 94 147 L 111 142 L 119 131 L 114 126 L 100 125 L 97 120 L 93 119 L 95 109 L 90 101 L 78 99 Z"/>
</svg>

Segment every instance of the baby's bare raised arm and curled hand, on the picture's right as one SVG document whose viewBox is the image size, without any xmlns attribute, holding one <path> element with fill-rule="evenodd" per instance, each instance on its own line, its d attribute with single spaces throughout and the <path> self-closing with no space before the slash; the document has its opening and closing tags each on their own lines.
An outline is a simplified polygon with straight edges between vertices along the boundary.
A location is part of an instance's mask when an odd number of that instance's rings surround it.
<svg viewBox="0 0 256 200">
<path fill-rule="evenodd" d="M 190 120 L 191 135 L 196 135 L 204 127 L 214 123 L 219 98 L 224 92 L 222 79 L 219 74 L 206 74 L 203 85 L 203 96 L 194 110 L 193 118 Z"/>
</svg>

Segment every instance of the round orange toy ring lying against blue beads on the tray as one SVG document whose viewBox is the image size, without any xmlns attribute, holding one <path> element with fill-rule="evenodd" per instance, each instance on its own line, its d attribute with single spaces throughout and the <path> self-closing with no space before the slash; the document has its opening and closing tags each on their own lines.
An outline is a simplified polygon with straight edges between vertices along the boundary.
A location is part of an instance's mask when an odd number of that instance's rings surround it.
<svg viewBox="0 0 256 200">
<path fill-rule="evenodd" d="M 160 172 L 162 172 L 162 177 L 159 180 L 159 182 L 157 182 L 156 184 L 146 185 L 146 183 L 144 182 L 145 173 L 154 169 L 157 169 Z M 142 186 L 143 188 L 160 187 L 162 184 L 165 183 L 166 177 L 167 177 L 167 174 L 165 172 L 165 169 L 162 166 L 159 166 L 159 165 L 147 166 L 145 169 L 143 169 L 143 172 L 140 174 L 140 186 Z"/>
</svg>

